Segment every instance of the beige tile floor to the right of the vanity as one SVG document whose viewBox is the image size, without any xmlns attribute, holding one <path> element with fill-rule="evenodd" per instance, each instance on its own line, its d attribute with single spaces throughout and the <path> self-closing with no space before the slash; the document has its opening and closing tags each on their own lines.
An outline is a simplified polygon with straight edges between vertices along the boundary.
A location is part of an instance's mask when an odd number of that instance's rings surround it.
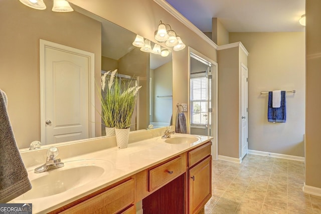
<svg viewBox="0 0 321 214">
<path fill-rule="evenodd" d="M 212 168 L 212 197 L 200 213 L 321 213 L 321 197 L 302 191 L 301 161 L 248 154 Z"/>
</svg>

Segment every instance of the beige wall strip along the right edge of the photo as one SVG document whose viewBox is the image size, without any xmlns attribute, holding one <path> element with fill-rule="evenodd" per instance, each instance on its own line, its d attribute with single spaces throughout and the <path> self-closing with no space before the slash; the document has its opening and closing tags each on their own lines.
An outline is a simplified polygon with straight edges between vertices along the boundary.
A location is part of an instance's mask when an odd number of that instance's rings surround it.
<svg viewBox="0 0 321 214">
<path fill-rule="evenodd" d="M 306 1 L 305 184 L 321 188 L 321 2 Z"/>
</svg>

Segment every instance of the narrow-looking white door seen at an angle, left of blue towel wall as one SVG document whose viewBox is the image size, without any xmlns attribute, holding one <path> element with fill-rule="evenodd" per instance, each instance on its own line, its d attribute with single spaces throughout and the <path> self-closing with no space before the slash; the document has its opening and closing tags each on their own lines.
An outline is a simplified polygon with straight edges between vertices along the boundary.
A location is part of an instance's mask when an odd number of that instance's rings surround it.
<svg viewBox="0 0 321 214">
<path fill-rule="evenodd" d="M 241 157 L 248 152 L 248 71 L 241 64 Z"/>
</svg>

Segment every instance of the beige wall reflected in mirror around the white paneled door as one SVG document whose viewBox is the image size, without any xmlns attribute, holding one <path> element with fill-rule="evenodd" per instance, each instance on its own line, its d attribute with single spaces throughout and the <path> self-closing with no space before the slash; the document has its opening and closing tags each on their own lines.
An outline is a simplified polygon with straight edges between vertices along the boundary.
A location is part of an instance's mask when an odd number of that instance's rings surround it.
<svg viewBox="0 0 321 214">
<path fill-rule="evenodd" d="M 8 96 L 19 148 L 40 140 L 39 39 L 95 53 L 96 77 L 100 79 L 100 23 L 76 12 L 57 16 L 51 11 L 52 2 L 46 4 L 46 11 L 38 11 L 19 1 L 0 1 L 0 88 Z M 97 127 L 100 131 L 100 123 Z"/>
</svg>

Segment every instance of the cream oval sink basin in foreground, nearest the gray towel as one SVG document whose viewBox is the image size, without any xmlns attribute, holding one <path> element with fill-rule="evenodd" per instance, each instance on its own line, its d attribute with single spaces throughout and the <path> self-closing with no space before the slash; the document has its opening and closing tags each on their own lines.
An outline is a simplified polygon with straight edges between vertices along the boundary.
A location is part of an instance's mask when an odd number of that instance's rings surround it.
<svg viewBox="0 0 321 214">
<path fill-rule="evenodd" d="M 36 199 L 66 192 L 95 181 L 113 168 L 112 163 L 100 159 L 75 160 L 64 164 L 65 166 L 48 172 L 29 171 L 32 189 L 16 200 Z"/>
</svg>

